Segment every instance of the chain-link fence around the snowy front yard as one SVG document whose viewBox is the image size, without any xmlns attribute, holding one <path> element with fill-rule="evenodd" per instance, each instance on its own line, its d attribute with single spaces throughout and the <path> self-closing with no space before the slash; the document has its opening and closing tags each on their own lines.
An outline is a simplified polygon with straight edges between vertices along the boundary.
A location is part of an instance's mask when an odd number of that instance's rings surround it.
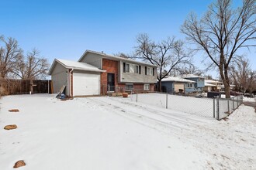
<svg viewBox="0 0 256 170">
<path fill-rule="evenodd" d="M 150 93 L 142 90 L 133 90 L 129 99 L 142 104 L 164 107 L 202 117 L 214 117 L 217 120 L 227 117 L 240 104 L 243 104 L 242 96 L 231 97 L 230 99 L 206 98 L 170 93 Z"/>
</svg>

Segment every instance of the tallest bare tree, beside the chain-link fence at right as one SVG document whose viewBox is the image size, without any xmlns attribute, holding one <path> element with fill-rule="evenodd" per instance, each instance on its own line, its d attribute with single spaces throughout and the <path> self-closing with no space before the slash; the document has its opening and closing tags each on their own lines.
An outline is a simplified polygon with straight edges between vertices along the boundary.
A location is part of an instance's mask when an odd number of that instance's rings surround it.
<svg viewBox="0 0 256 170">
<path fill-rule="evenodd" d="M 226 97 L 230 97 L 228 70 L 239 49 L 255 46 L 256 0 L 244 0 L 239 8 L 232 8 L 231 0 L 216 0 L 202 19 L 191 13 L 182 32 L 198 45 L 220 72 Z"/>
</svg>

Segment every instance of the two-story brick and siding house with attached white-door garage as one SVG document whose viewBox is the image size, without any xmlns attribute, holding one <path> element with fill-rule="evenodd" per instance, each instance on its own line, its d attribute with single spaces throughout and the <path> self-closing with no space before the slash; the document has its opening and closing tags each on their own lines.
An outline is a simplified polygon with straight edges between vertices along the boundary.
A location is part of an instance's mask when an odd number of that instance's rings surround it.
<svg viewBox="0 0 256 170">
<path fill-rule="evenodd" d="M 54 59 L 49 74 L 54 93 L 64 85 L 68 96 L 154 91 L 157 83 L 157 66 L 90 50 L 78 62 Z"/>
</svg>

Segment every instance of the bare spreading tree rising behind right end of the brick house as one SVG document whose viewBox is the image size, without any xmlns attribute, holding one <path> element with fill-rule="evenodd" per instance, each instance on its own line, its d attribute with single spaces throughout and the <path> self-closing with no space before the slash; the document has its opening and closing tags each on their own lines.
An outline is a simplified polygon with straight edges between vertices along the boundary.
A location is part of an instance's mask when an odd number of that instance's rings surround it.
<svg viewBox="0 0 256 170">
<path fill-rule="evenodd" d="M 184 42 L 175 40 L 175 38 L 168 38 L 156 43 L 145 33 L 137 36 L 135 57 L 158 66 L 159 91 L 161 91 L 161 80 L 178 65 L 189 63 L 190 60 Z"/>
</svg>

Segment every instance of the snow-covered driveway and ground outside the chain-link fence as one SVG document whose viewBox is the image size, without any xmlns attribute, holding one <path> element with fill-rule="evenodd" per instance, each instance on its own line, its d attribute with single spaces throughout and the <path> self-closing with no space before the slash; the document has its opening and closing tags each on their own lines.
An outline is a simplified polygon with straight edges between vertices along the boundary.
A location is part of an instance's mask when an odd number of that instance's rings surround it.
<svg viewBox="0 0 256 170">
<path fill-rule="evenodd" d="M 0 107 L 1 169 L 256 169 L 253 107 L 227 121 L 122 97 L 17 95 Z"/>
</svg>

